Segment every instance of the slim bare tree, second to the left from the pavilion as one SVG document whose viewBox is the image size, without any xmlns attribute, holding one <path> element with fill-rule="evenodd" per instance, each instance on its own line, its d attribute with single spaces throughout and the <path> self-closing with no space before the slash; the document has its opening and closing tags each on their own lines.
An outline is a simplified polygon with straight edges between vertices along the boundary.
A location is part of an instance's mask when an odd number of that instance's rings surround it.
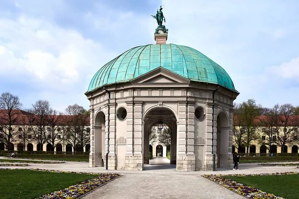
<svg viewBox="0 0 299 199">
<path fill-rule="evenodd" d="M 61 123 L 62 116 L 57 110 L 49 109 L 49 115 L 46 118 L 47 129 L 44 131 L 44 138 L 48 144 L 51 144 L 51 151 L 54 151 L 57 144 L 62 141 L 61 138 Z M 58 131 L 60 128 L 60 131 Z"/>
</svg>

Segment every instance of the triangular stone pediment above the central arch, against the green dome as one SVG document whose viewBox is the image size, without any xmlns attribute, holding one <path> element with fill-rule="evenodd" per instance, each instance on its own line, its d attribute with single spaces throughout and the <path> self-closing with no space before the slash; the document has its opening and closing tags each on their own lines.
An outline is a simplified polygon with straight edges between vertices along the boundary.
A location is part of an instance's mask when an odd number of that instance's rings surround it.
<svg viewBox="0 0 299 199">
<path fill-rule="evenodd" d="M 146 73 L 134 80 L 132 83 L 140 84 L 140 83 L 151 83 L 151 84 L 169 84 L 169 83 L 189 83 L 190 80 L 181 77 L 171 71 L 168 71 L 162 67 L 159 67 L 149 73 Z"/>
</svg>

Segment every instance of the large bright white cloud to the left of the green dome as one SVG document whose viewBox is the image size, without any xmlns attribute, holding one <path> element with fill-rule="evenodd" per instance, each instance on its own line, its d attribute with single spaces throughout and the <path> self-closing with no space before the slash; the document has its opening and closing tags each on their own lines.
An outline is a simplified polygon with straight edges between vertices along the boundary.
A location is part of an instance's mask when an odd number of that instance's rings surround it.
<svg viewBox="0 0 299 199">
<path fill-rule="evenodd" d="M 88 108 L 84 93 L 89 81 L 115 53 L 75 30 L 25 15 L 17 20 L 0 18 L 0 27 L 1 72 L 13 73 L 21 77 L 16 80 L 21 84 L 39 88 L 38 93 L 31 94 L 35 100 L 47 99 L 54 107 L 81 103 Z M 66 99 L 57 99 L 61 92 L 67 94 Z"/>
</svg>

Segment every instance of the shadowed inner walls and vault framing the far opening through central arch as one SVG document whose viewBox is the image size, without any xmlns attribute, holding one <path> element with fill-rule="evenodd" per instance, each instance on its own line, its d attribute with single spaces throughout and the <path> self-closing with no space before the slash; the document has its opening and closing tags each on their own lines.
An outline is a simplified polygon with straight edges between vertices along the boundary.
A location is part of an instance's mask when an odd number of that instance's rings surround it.
<svg viewBox="0 0 299 199">
<path fill-rule="evenodd" d="M 168 147 L 168 150 L 170 151 L 170 164 L 176 164 L 176 137 L 177 137 L 177 127 L 176 127 L 176 116 L 173 113 L 172 110 L 166 107 L 154 107 L 151 110 L 149 110 L 145 116 L 144 116 L 144 164 L 149 164 L 149 130 L 152 126 L 157 126 L 157 123 L 159 121 L 162 121 L 163 125 L 167 126 L 170 131 L 170 143 L 160 143 L 161 144 L 161 150 L 164 152 L 161 153 L 161 157 L 167 156 L 167 145 L 170 145 Z M 163 146 L 162 146 L 163 145 Z M 156 146 L 157 147 L 157 146 Z M 157 148 L 151 147 L 152 150 L 152 156 L 157 155 Z M 164 154 L 165 153 L 165 154 Z"/>
</svg>

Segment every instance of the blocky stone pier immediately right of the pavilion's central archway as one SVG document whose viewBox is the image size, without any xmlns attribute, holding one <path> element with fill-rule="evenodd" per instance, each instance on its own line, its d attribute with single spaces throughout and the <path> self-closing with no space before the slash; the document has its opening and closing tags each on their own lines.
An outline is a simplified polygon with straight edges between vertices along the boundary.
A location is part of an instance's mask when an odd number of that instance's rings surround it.
<svg viewBox="0 0 299 199">
<path fill-rule="evenodd" d="M 194 108 L 193 108 L 194 109 Z M 188 139 L 188 112 L 189 105 L 186 102 L 179 102 L 178 104 L 178 129 L 177 129 L 177 158 L 176 171 L 195 171 L 195 156 L 194 156 L 194 121 L 193 121 L 193 154 L 192 138 Z M 191 110 L 191 108 L 190 108 Z M 194 113 L 193 113 L 194 114 Z M 194 119 L 194 118 L 193 118 Z M 192 128 L 191 128 L 192 130 Z M 192 131 L 190 132 L 192 137 Z M 190 149 L 188 149 L 190 145 Z M 188 151 L 190 150 L 190 151 Z M 189 152 L 189 154 L 188 154 Z"/>
</svg>

